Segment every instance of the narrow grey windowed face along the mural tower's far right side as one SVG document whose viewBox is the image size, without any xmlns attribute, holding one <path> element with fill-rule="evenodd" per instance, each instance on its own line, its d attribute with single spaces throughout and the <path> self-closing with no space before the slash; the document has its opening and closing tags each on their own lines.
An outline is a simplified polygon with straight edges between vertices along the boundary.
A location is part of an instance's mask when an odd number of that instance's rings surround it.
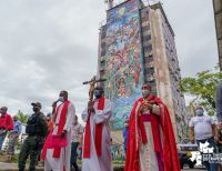
<svg viewBox="0 0 222 171">
<path fill-rule="evenodd" d="M 164 14 L 162 12 L 161 12 L 161 21 L 162 21 L 163 37 L 165 42 L 165 52 L 168 60 L 167 70 L 169 70 L 170 73 L 170 88 L 173 97 L 172 100 L 173 100 L 173 108 L 175 115 L 175 125 L 178 129 L 178 135 L 182 139 L 184 133 L 183 125 L 185 124 L 186 109 L 185 109 L 184 97 L 180 91 L 181 73 L 175 49 L 174 33 L 169 27 L 169 23 L 165 20 Z"/>
</svg>

